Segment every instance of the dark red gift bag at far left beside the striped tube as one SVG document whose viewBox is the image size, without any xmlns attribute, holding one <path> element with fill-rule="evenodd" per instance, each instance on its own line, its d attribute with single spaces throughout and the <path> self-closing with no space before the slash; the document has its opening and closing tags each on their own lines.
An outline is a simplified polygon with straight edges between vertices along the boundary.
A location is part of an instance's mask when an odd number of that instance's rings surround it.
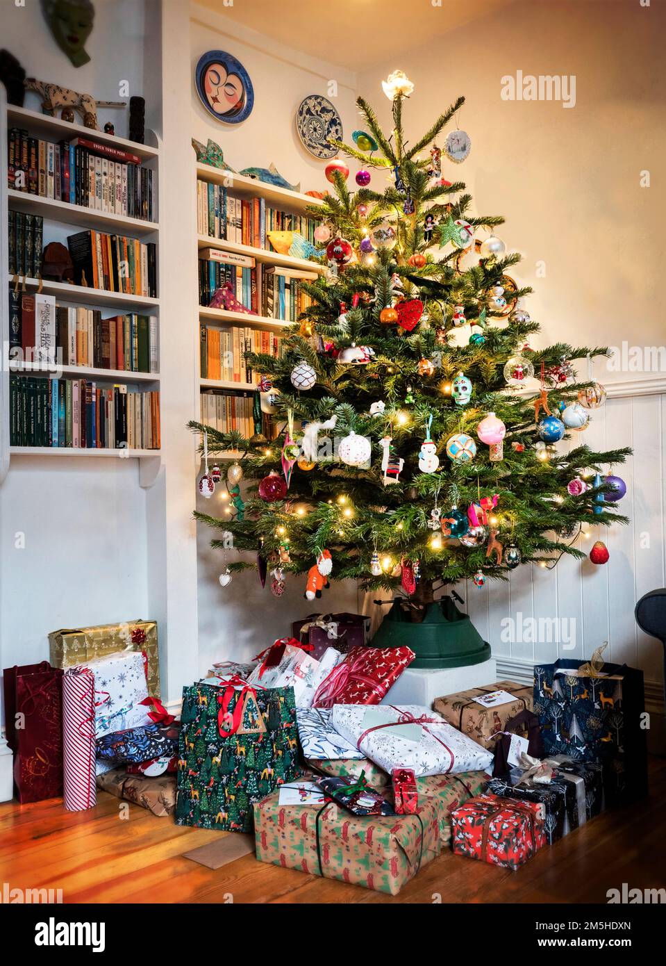
<svg viewBox="0 0 666 966">
<path fill-rule="evenodd" d="M 21 804 L 57 798 L 63 794 L 63 671 L 42 661 L 5 668 L 3 681 L 16 798 Z"/>
</svg>

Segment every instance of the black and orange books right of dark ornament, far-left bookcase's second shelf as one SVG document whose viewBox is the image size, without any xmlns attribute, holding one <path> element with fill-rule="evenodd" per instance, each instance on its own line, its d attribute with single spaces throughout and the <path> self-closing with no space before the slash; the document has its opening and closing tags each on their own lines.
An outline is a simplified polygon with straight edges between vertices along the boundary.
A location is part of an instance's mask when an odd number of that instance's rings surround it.
<svg viewBox="0 0 666 966">
<path fill-rule="evenodd" d="M 69 235 L 67 243 L 76 285 L 157 298 L 153 241 L 144 243 L 125 235 L 88 230 Z"/>
</svg>

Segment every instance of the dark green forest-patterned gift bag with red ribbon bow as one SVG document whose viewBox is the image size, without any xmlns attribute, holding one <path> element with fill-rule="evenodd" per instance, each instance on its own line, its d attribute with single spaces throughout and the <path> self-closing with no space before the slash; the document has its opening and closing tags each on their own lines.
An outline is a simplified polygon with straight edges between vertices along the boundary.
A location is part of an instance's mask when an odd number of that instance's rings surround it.
<svg viewBox="0 0 666 966">
<path fill-rule="evenodd" d="M 240 679 L 182 692 L 177 825 L 252 831 L 252 805 L 298 774 L 291 688 Z"/>
</svg>

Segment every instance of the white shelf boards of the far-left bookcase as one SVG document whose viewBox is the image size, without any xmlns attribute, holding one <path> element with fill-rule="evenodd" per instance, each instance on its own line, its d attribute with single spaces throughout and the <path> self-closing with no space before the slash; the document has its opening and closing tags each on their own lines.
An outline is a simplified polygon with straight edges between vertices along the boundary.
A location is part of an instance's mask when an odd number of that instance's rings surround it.
<svg viewBox="0 0 666 966">
<path fill-rule="evenodd" d="M 24 362 L 8 360 L 10 335 L 8 293 L 14 276 L 9 271 L 8 212 L 41 215 L 43 218 L 42 247 L 49 241 L 62 241 L 63 233 L 75 234 L 77 231 L 93 229 L 109 235 L 126 235 L 141 242 L 155 243 L 155 276 L 157 298 L 144 295 L 130 295 L 124 292 L 107 291 L 69 282 L 41 280 L 34 277 L 19 277 L 19 292 L 37 295 L 42 293 L 57 299 L 62 307 L 85 306 L 98 310 L 104 317 L 116 315 L 146 315 L 154 317 L 157 333 L 160 327 L 160 289 L 159 289 L 159 160 L 160 150 L 153 132 L 146 132 L 149 143 L 135 144 L 125 138 L 93 131 L 78 124 L 69 124 L 60 118 L 49 117 L 38 111 L 7 104 L 6 92 L 0 84 L 0 273 L 4 274 L 5 294 L 2 297 L 0 319 L 2 321 L 3 367 L 0 377 L 0 483 L 10 470 L 11 463 L 17 459 L 42 460 L 59 457 L 62 459 L 87 460 L 95 458 L 131 459 L 138 463 L 139 483 L 150 487 L 160 469 L 159 449 L 120 447 L 73 446 L 35 446 L 15 445 L 10 441 L 10 379 L 14 373 L 31 375 L 38 378 L 56 377 L 59 379 L 86 380 L 98 384 L 100 388 L 111 388 L 114 384 L 125 384 L 128 390 L 158 391 L 160 376 L 158 372 L 137 372 L 100 368 L 97 365 L 57 364 L 55 367 L 43 362 Z M 28 131 L 30 137 L 41 138 L 57 143 L 81 137 L 100 144 L 126 151 L 138 156 L 142 167 L 153 171 L 153 217 L 143 218 L 125 214 L 101 212 L 92 208 L 70 204 L 57 198 L 41 197 L 8 186 L 8 133 L 11 128 Z M 120 169 L 119 169 L 120 170 Z M 157 336 L 159 343 L 159 335 Z M 159 353 L 159 348 L 157 348 Z M 103 466 L 103 464 L 102 464 Z"/>
</svg>

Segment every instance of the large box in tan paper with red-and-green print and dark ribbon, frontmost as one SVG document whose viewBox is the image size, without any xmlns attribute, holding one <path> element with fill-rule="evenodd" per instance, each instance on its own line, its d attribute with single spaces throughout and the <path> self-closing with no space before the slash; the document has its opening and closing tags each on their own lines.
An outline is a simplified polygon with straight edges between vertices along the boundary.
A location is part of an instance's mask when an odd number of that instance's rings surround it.
<svg viewBox="0 0 666 966">
<path fill-rule="evenodd" d="M 441 852 L 441 808 L 429 798 L 411 815 L 362 817 L 333 802 L 281 806 L 274 792 L 255 805 L 257 858 L 396 895 Z"/>
</svg>

